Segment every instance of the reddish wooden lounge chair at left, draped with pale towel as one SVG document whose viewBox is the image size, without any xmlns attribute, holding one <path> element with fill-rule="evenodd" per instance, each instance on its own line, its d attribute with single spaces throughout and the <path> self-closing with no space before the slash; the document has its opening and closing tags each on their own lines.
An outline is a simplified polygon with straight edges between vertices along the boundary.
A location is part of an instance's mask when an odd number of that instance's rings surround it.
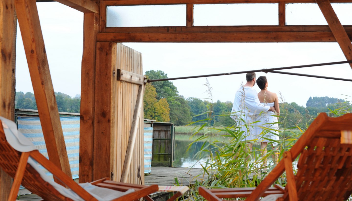
<svg viewBox="0 0 352 201">
<path fill-rule="evenodd" d="M 2 118 L 2 117 L 1 117 Z M 18 151 L 15 150 L 11 145 L 10 141 L 13 144 L 13 140 L 17 140 L 17 142 L 21 143 L 21 139 L 14 137 L 15 135 L 22 134 L 11 134 L 8 135 L 9 130 L 10 132 L 13 129 L 9 129 L 6 122 L 10 122 L 8 119 L 2 119 L 0 121 L 0 167 L 9 175 L 14 178 L 13 186 L 11 188 L 11 193 L 8 200 L 16 200 L 18 189 L 20 184 L 22 184 L 25 188 L 30 190 L 32 193 L 37 194 L 38 196 L 42 197 L 43 200 L 46 201 L 72 201 L 72 197 L 65 196 L 66 194 L 62 193 L 62 189 L 57 188 L 57 186 L 64 189 L 64 191 L 69 191 L 69 193 L 73 192 L 73 194 L 78 197 L 80 200 L 84 201 L 98 201 L 102 199 L 97 199 L 90 193 L 88 193 L 84 188 L 82 188 L 79 184 L 73 181 L 72 178 L 67 176 L 61 169 L 56 167 L 52 162 L 50 162 L 46 157 L 39 153 L 38 150 L 31 150 L 31 151 Z M 13 122 L 12 122 L 13 123 Z M 14 123 L 13 123 L 14 124 Z M 15 127 L 15 125 L 14 125 Z M 7 134 L 5 134 L 5 131 Z M 17 131 L 17 128 L 16 128 Z M 14 133 L 14 132 L 11 132 Z M 10 136 L 10 137 L 9 137 Z M 23 139 L 23 138 L 22 138 Z M 9 141 L 10 140 L 10 141 Z M 33 145 L 29 140 L 25 139 L 26 141 L 24 144 Z M 31 146 L 29 145 L 29 146 Z M 26 146 L 24 146 L 26 149 Z M 34 145 L 33 145 L 34 147 Z M 16 148 L 18 149 L 18 148 Z M 44 168 L 50 171 L 54 177 L 56 177 L 59 181 L 61 181 L 61 185 L 55 183 L 54 181 L 47 181 L 44 178 L 45 173 L 40 170 L 37 164 L 33 161 L 37 161 L 41 164 Z M 34 162 L 34 163 L 33 163 Z M 44 175 L 43 175 L 44 174 Z M 120 191 L 120 193 L 124 193 L 127 190 L 133 191 L 131 193 L 126 192 L 126 194 L 116 198 L 116 199 L 107 199 L 107 200 L 114 200 L 114 201 L 132 201 L 132 200 L 139 200 L 140 198 L 144 197 L 144 199 L 148 201 L 152 201 L 149 197 L 149 194 L 157 192 L 157 191 L 178 191 L 174 196 L 172 196 L 169 200 L 175 200 L 178 196 L 181 196 L 188 190 L 188 187 L 161 187 L 159 188 L 158 185 L 151 185 L 151 186 L 144 186 L 138 184 L 128 184 L 122 182 L 114 182 L 110 181 L 108 178 L 103 178 L 91 183 L 86 183 L 90 187 L 103 187 L 98 190 L 108 190 L 116 193 L 116 190 Z M 63 187 L 64 186 L 64 187 Z M 69 189 L 65 188 L 68 187 Z M 113 190 L 110 190 L 113 189 Z M 133 190 L 131 190 L 133 189 Z M 117 192 L 119 193 L 119 192 Z M 103 199 L 106 200 L 106 199 Z"/>
</svg>

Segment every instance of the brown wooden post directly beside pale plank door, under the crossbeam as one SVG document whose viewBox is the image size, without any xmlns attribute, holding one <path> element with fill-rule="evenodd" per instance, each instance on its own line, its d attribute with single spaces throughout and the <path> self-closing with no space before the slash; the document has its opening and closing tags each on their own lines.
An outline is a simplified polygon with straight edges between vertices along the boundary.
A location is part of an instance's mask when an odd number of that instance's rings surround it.
<svg viewBox="0 0 352 201">
<path fill-rule="evenodd" d="M 96 43 L 93 180 L 111 176 L 111 141 L 115 132 L 117 44 Z M 99 90 L 98 90 L 99 89 Z"/>
</svg>

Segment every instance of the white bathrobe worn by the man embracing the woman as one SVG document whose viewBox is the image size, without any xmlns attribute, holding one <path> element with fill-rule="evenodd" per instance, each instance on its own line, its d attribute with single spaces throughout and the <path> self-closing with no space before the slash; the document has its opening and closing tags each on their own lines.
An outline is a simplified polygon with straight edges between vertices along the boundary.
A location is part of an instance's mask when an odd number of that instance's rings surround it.
<svg viewBox="0 0 352 201">
<path fill-rule="evenodd" d="M 253 122 L 256 121 L 257 114 L 266 112 L 269 109 L 270 106 L 260 103 L 255 89 L 250 86 L 239 87 L 233 101 L 233 116 L 231 118 L 238 122 L 241 130 L 244 131 L 245 140 L 254 140 L 257 138 Z"/>
</svg>

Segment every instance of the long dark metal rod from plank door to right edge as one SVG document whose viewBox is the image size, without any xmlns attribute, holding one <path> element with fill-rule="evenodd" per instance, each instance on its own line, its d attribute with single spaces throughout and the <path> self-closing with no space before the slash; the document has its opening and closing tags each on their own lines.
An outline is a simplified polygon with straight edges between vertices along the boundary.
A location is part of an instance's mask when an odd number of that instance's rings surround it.
<svg viewBox="0 0 352 201">
<path fill-rule="evenodd" d="M 326 65 L 335 65 L 335 64 L 346 64 L 352 63 L 352 60 L 348 61 L 338 61 L 331 63 L 322 63 L 322 64 L 309 64 L 309 65 L 301 65 L 301 66 L 289 66 L 289 67 L 278 67 L 271 69 L 261 69 L 261 70 L 251 70 L 251 71 L 240 71 L 240 72 L 231 72 L 231 73 L 218 73 L 218 74 L 208 74 L 208 75 L 200 75 L 200 76 L 188 76 L 188 77 L 175 77 L 175 78 L 164 78 L 164 79 L 149 79 L 146 82 L 158 82 L 158 81 L 166 81 L 166 80 L 175 80 L 175 79 L 189 79 L 189 78 L 200 78 L 200 77 L 213 77 L 213 76 L 223 76 L 223 75 L 232 75 L 232 74 L 242 74 L 242 73 L 253 73 L 253 72 L 269 72 L 275 70 L 285 70 L 285 69 L 298 69 L 304 67 L 313 67 L 313 66 L 326 66 Z"/>
</svg>

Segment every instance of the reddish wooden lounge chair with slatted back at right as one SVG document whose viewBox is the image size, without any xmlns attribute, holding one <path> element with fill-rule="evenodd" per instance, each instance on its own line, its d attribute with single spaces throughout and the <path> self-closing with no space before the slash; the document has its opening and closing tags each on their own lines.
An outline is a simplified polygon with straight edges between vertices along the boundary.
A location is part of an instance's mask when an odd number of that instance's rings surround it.
<svg viewBox="0 0 352 201">
<path fill-rule="evenodd" d="M 199 193 L 208 201 L 235 197 L 246 197 L 246 201 L 257 201 L 260 197 L 277 201 L 347 200 L 352 193 L 351 135 L 352 114 L 329 118 L 321 113 L 256 188 L 200 187 Z M 299 154 L 297 174 L 294 175 L 292 161 Z M 284 171 L 286 187 L 271 187 Z"/>
</svg>

